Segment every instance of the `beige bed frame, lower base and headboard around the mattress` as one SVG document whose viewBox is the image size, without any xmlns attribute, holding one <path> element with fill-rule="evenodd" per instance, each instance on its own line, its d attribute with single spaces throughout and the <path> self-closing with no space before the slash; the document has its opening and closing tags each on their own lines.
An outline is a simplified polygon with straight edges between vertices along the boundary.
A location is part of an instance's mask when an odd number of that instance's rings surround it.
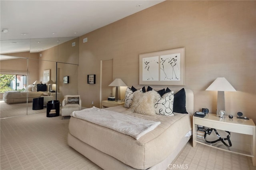
<svg viewBox="0 0 256 170">
<path fill-rule="evenodd" d="M 163 88 L 155 88 L 155 90 L 160 90 Z M 139 88 L 137 88 L 139 89 Z M 172 91 L 174 91 L 174 94 L 179 91 L 180 89 L 174 89 L 170 88 Z M 194 94 L 190 89 L 185 89 L 186 91 L 186 110 L 189 114 L 193 115 L 194 113 Z M 191 116 L 191 122 L 192 122 L 192 116 Z M 180 142 L 178 142 L 178 145 L 175 147 L 175 149 L 172 151 L 172 154 L 170 154 L 167 158 L 165 158 L 162 162 L 148 168 L 148 170 L 166 170 L 168 166 L 172 163 L 172 161 L 176 158 L 176 156 L 179 154 L 179 152 L 182 150 L 182 148 L 186 145 L 190 137 L 183 137 Z M 120 162 L 116 158 L 109 156 L 108 154 L 105 154 L 103 152 L 100 152 L 99 150 L 93 148 L 92 146 L 82 142 L 78 138 L 72 136 L 70 133 L 68 133 L 68 144 L 80 152 L 82 155 L 84 155 L 86 158 L 90 159 L 92 162 L 103 168 L 104 170 L 134 170 L 131 166 L 128 166 L 124 164 L 123 162 Z"/>
</svg>

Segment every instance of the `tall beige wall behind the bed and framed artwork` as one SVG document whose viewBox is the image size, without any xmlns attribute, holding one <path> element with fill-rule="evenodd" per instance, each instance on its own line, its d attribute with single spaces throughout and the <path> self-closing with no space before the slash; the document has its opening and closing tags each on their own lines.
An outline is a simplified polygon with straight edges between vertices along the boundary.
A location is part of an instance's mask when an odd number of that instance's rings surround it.
<svg viewBox="0 0 256 170">
<path fill-rule="evenodd" d="M 255 18 L 256 1 L 165 1 L 81 36 L 82 103 L 100 105 L 100 60 L 113 59 L 113 79 L 138 86 L 139 54 L 185 47 L 194 111 L 216 111 L 217 92 L 205 89 L 226 77 L 237 90 L 225 93 L 227 114 L 241 111 L 256 122 Z M 86 83 L 88 74 L 96 74 L 95 85 Z"/>
</svg>

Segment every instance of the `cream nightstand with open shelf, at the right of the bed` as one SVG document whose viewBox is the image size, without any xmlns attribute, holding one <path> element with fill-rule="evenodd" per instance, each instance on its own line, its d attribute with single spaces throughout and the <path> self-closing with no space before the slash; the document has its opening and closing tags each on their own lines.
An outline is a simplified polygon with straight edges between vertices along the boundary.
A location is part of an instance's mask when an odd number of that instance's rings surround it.
<svg viewBox="0 0 256 170">
<path fill-rule="evenodd" d="M 224 132 L 222 130 L 230 131 L 232 146 L 226 147 L 220 141 L 216 143 L 206 142 L 203 137 L 197 135 L 198 125 L 207 128 L 215 128 L 219 133 Z M 226 137 L 224 135 L 221 135 L 222 138 Z M 206 137 L 206 139 L 210 141 L 212 141 L 211 138 L 215 138 L 213 140 L 216 140 L 215 132 L 212 132 Z M 252 157 L 253 166 L 256 166 L 256 127 L 252 119 L 237 119 L 236 117 L 233 117 L 233 119 L 228 117 L 220 118 L 216 116 L 216 113 L 208 113 L 204 118 L 193 116 L 193 147 L 195 147 L 197 143 L 227 152 Z"/>
</svg>

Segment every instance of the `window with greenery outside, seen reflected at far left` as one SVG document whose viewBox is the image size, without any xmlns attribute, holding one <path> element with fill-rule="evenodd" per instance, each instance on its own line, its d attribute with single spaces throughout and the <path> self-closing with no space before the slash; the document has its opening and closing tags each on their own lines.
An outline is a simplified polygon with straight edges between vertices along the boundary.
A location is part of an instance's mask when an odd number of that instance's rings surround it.
<svg viewBox="0 0 256 170">
<path fill-rule="evenodd" d="M 0 74 L 0 93 L 26 91 L 26 75 Z"/>
</svg>

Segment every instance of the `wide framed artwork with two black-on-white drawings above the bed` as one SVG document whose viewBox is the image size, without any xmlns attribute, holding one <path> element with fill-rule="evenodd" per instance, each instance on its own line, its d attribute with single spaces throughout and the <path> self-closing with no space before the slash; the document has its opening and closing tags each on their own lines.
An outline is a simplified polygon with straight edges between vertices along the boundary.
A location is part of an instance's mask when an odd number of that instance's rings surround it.
<svg viewBox="0 0 256 170">
<path fill-rule="evenodd" d="M 185 47 L 139 57 L 140 85 L 185 85 Z"/>
</svg>

